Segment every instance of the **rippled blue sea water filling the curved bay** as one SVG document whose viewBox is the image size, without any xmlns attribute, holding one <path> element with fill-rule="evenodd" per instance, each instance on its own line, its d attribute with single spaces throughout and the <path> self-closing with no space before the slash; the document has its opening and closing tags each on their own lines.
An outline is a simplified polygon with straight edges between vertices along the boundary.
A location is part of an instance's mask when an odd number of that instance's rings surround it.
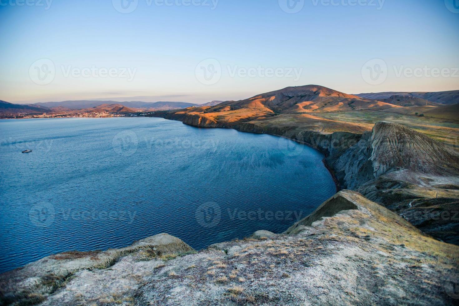
<svg viewBox="0 0 459 306">
<path fill-rule="evenodd" d="M 0 272 L 164 232 L 196 250 L 282 232 L 335 193 L 323 158 L 162 118 L 1 120 Z"/>
</svg>

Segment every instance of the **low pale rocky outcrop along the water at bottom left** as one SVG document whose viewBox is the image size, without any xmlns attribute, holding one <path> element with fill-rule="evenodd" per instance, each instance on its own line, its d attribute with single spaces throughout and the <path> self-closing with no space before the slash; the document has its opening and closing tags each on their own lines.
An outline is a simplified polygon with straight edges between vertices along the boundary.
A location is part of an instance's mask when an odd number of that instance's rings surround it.
<svg viewBox="0 0 459 306">
<path fill-rule="evenodd" d="M 46 296 L 65 286 L 75 273 L 108 269 L 128 255 L 147 258 L 187 254 L 193 248 L 169 234 L 157 234 L 135 241 L 121 249 L 89 252 L 68 251 L 29 263 L 0 276 L 1 301 L 4 304 L 29 305 L 40 302 Z M 5 289 L 6 290 L 3 290 Z"/>
</svg>

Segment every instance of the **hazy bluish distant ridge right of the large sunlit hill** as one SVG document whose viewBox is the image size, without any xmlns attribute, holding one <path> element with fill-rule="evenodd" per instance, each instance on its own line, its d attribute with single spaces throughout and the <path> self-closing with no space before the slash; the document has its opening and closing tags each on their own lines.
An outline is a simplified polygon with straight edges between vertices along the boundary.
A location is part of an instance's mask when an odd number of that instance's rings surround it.
<svg viewBox="0 0 459 306">
<path fill-rule="evenodd" d="M 409 95 L 414 98 L 421 98 L 431 102 L 437 102 L 441 104 L 456 104 L 459 103 L 459 90 L 450 90 L 450 91 L 437 91 L 437 92 L 380 92 L 380 93 L 366 93 L 358 94 L 359 97 L 381 100 L 388 99 L 392 95 Z"/>
</svg>

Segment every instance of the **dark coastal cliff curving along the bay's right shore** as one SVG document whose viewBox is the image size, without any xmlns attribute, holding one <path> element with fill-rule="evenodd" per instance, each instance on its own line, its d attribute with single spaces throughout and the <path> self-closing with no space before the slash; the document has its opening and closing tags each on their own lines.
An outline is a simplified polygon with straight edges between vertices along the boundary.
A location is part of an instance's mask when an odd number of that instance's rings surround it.
<svg viewBox="0 0 459 306">
<path fill-rule="evenodd" d="M 200 128 L 272 134 L 312 146 L 325 154 L 325 165 L 340 189 L 357 190 L 433 237 L 459 244 L 459 156 L 425 134 L 394 122 L 377 122 L 371 131 L 358 134 L 348 132 L 353 126 L 302 128 L 278 123 L 276 117 L 217 121 L 205 111 L 190 111 L 153 116 Z M 442 213 L 446 217 L 439 217 Z"/>
</svg>

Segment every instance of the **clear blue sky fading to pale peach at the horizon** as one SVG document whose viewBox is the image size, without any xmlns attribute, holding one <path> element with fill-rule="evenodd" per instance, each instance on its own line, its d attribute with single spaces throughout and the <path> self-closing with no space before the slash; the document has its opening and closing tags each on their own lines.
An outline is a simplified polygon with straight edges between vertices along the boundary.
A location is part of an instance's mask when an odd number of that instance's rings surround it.
<svg viewBox="0 0 459 306">
<path fill-rule="evenodd" d="M 12 103 L 459 89 L 459 0 L 0 0 L 0 26 Z"/>
</svg>

